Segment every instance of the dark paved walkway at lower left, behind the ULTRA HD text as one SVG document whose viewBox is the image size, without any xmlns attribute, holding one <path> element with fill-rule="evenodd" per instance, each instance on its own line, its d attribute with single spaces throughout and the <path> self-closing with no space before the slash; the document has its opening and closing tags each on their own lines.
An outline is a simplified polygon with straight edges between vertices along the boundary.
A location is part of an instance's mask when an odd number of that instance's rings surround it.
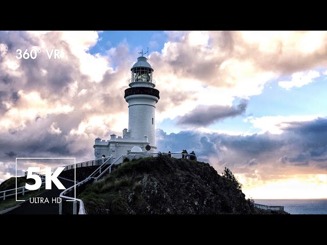
<svg viewBox="0 0 327 245">
<path fill-rule="evenodd" d="M 60 179 L 64 187 L 69 188 L 74 185 L 74 182 Z M 30 200 L 22 202 L 20 207 L 15 208 L 6 214 L 59 214 L 59 204 L 52 203 L 52 198 L 58 198 L 63 190 L 59 190 L 52 183 L 52 189 L 39 194 L 38 198 L 48 198 L 49 203 L 30 203 Z M 24 200 L 24 197 L 21 197 Z"/>
</svg>

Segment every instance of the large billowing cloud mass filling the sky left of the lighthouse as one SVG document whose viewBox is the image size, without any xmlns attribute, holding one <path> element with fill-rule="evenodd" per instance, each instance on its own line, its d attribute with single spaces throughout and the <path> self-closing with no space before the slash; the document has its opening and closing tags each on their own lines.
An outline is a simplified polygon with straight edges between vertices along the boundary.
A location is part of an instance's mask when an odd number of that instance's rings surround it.
<svg viewBox="0 0 327 245">
<path fill-rule="evenodd" d="M 117 132 L 115 124 L 127 123 L 122 122 L 122 110 L 113 105 L 126 103 L 122 83 L 127 85 L 132 59 L 120 62 L 126 73 L 124 79 L 124 75 L 113 72 L 109 56 L 87 53 L 97 42 L 97 32 L 71 34 L 0 32 L 0 159 L 6 164 L 14 164 L 14 157 L 89 160 L 94 157 L 92 144 L 96 137 Z M 126 54 L 128 46 L 123 46 Z M 18 48 L 41 48 L 43 52 L 35 60 L 18 60 Z M 60 60 L 46 56 L 44 51 L 52 48 L 61 50 Z M 110 125 L 91 133 L 89 127 L 87 136 L 70 134 L 78 130 L 81 122 L 108 114 L 112 118 Z M 0 178 L 10 177 L 6 173 L 11 171 L 6 169 L 0 167 Z"/>
</svg>

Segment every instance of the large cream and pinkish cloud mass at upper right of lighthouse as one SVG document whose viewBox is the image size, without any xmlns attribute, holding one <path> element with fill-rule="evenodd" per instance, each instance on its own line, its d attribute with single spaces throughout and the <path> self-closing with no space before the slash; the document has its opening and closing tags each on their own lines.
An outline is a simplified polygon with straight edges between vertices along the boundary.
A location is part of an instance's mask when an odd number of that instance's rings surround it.
<svg viewBox="0 0 327 245">
<path fill-rule="evenodd" d="M 327 65 L 327 32 L 166 33 L 162 51 L 149 56 L 157 87 L 172 97 L 175 90 L 192 94 L 192 99 L 174 96 L 182 101 L 179 106 L 167 96 L 160 97 L 159 103 L 165 105 L 160 120 L 182 116 L 198 105 L 231 106 L 235 97 L 260 94 L 272 79 L 298 72 L 306 71 L 303 76 L 307 77 L 296 79 L 295 75 L 293 82 L 299 85 L 298 80 L 304 79 L 307 83 L 314 79 L 315 68 Z"/>
</svg>

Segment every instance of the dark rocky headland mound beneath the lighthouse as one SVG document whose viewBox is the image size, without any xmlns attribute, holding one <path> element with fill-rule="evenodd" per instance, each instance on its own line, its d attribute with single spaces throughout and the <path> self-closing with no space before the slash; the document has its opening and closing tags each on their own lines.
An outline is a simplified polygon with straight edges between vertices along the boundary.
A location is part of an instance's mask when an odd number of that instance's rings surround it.
<svg viewBox="0 0 327 245">
<path fill-rule="evenodd" d="M 255 214 L 208 163 L 168 156 L 124 162 L 79 196 L 89 214 Z"/>
</svg>

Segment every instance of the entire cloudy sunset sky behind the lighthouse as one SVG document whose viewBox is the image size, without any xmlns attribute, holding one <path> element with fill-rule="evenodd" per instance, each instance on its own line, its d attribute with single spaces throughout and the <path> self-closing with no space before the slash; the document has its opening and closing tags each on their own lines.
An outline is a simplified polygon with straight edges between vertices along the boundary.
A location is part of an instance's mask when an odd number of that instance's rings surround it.
<svg viewBox="0 0 327 245">
<path fill-rule="evenodd" d="M 327 198 L 320 31 L 0 31 L 0 183 L 16 157 L 82 162 L 95 138 L 122 135 L 130 68 L 147 47 L 157 151 L 228 167 L 247 198 Z M 18 48 L 42 53 L 18 60 Z"/>
</svg>

